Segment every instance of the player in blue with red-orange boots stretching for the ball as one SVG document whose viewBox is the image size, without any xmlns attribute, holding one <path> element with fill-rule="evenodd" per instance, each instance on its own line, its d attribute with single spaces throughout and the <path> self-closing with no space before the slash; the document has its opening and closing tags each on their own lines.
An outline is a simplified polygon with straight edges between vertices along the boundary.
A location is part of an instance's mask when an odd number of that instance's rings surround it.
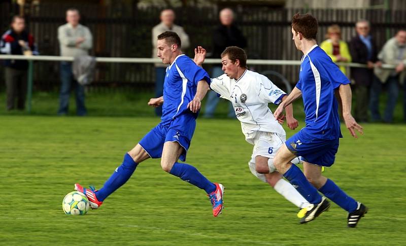
<svg viewBox="0 0 406 246">
<path fill-rule="evenodd" d="M 209 89 L 210 77 L 203 68 L 182 54 L 181 40 L 176 32 L 159 34 L 157 56 L 168 64 L 163 96 L 152 98 L 148 104 L 158 107 L 163 103 L 161 122 L 125 154 L 123 163 L 103 188 L 87 189 L 75 184 L 75 190 L 87 196 L 93 209 L 98 208 L 111 193 L 127 182 L 140 162 L 161 158 L 164 171 L 206 191 L 212 202 L 213 215 L 217 217 L 223 208 L 223 185 L 210 182 L 195 167 L 178 162 L 178 159 L 186 160 L 200 101 Z"/>
</svg>

